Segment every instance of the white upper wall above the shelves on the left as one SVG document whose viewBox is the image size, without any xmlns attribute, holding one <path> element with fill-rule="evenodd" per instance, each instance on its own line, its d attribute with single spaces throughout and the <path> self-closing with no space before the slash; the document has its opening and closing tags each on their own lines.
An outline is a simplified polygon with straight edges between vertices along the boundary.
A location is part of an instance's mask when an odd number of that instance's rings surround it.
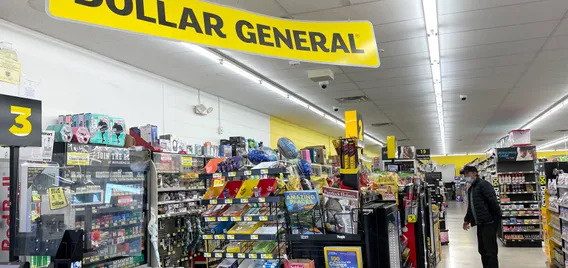
<svg viewBox="0 0 568 268">
<path fill-rule="evenodd" d="M 0 43 L 11 43 L 25 77 L 39 81 L 43 128 L 59 114 L 103 113 L 123 117 L 127 127 L 154 124 L 160 134 L 173 134 L 190 144 L 229 136 L 270 143 L 270 116 L 201 92 L 213 106 L 208 116 L 193 113 L 197 90 L 108 59 L 85 49 L 0 20 Z M 144 55 L 140 55 L 143 57 Z M 0 93 L 18 89 L 0 82 Z M 220 125 L 224 134 L 218 134 Z"/>
</svg>

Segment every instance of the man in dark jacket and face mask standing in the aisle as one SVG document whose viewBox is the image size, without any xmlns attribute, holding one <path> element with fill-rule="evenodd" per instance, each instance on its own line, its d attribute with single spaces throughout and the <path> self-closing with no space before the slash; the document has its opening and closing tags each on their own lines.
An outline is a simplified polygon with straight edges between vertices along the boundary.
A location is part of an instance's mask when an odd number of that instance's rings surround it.
<svg viewBox="0 0 568 268">
<path fill-rule="evenodd" d="M 466 166 L 465 179 L 471 183 L 468 189 L 467 214 L 463 229 L 477 225 L 477 244 L 483 268 L 498 268 L 497 230 L 501 226 L 501 206 L 493 186 L 477 176 L 477 168 Z"/>
</svg>

